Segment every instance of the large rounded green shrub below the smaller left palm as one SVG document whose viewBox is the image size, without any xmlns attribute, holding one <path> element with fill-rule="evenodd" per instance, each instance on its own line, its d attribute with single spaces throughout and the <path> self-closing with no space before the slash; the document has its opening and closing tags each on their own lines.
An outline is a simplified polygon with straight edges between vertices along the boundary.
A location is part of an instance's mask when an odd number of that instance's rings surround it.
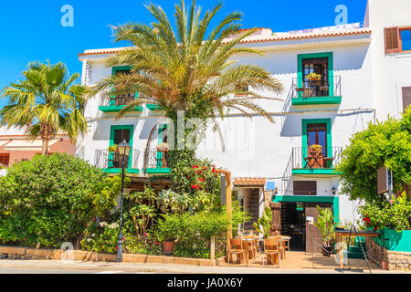
<svg viewBox="0 0 411 292">
<path fill-rule="evenodd" d="M 59 247 L 116 205 L 117 178 L 68 154 L 36 155 L 0 179 L 0 241 Z"/>
</svg>

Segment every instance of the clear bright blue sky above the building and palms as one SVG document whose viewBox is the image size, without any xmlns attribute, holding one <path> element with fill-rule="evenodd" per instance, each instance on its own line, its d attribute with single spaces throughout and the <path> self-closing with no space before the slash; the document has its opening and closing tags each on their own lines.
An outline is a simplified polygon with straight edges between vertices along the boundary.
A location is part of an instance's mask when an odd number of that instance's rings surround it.
<svg viewBox="0 0 411 292">
<path fill-rule="evenodd" d="M 62 61 L 70 73 L 81 73 L 78 53 L 89 48 L 122 47 L 114 43 L 110 25 L 129 21 L 150 23 L 153 17 L 142 0 L 37 0 L 0 1 L 0 88 L 21 78 L 30 61 Z M 171 18 L 179 0 L 153 0 Z M 191 0 L 186 0 L 186 3 Z M 348 8 L 348 23 L 363 22 L 366 0 L 225 0 L 216 19 L 232 11 L 244 13 L 243 27 L 269 27 L 289 31 L 333 26 L 337 5 Z M 197 0 L 203 10 L 216 1 Z M 74 26 L 63 27 L 63 5 L 74 8 Z M 0 100 L 0 108 L 5 100 Z"/>
</svg>

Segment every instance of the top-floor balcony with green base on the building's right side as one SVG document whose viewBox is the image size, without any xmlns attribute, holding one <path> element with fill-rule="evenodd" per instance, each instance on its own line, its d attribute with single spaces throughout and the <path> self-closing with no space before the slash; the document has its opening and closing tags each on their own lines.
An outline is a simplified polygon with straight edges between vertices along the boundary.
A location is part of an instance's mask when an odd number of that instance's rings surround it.
<svg viewBox="0 0 411 292">
<path fill-rule="evenodd" d="M 311 104 L 340 104 L 341 76 L 308 80 L 292 78 L 291 103 L 294 106 Z"/>
</svg>

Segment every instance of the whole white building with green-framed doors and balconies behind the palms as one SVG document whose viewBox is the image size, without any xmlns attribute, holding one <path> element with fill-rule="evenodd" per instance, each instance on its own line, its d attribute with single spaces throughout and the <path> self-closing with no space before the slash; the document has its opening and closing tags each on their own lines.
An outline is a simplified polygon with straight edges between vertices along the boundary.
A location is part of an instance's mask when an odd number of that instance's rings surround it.
<svg viewBox="0 0 411 292">
<path fill-rule="evenodd" d="M 334 166 L 353 133 L 366 129 L 376 118 L 398 117 L 411 103 L 410 27 L 409 0 L 397 0 L 395 5 L 370 0 L 363 27 L 354 24 L 275 34 L 261 28 L 242 42 L 241 46 L 258 48 L 266 56 L 239 55 L 238 63 L 267 68 L 286 89 L 279 96 L 265 93 L 283 101 L 260 103 L 276 122 L 258 115 L 250 120 L 233 114 L 220 124 L 225 151 L 217 133 L 208 130 L 197 154 L 232 172 L 239 198 L 256 217 L 264 203 L 274 202 L 272 207 L 280 211 L 274 212 L 278 215 L 276 228 L 293 237 L 291 248 L 318 251 L 321 235 L 306 223 L 315 219 L 315 205 L 331 207 L 340 221 L 357 218 L 358 203 L 339 195 Z M 105 58 L 120 49 L 79 54 L 83 82 L 93 86 L 101 78 L 126 70 L 104 65 Z M 320 73 L 321 81 L 308 81 L 311 72 Z M 108 172 L 120 172 L 118 162 L 108 161 L 107 149 L 124 138 L 130 141 L 128 172 L 132 187 L 138 189 L 147 176 L 169 172 L 155 148 L 143 167 L 146 142 L 162 112 L 146 105 L 116 122 L 114 116 L 123 102 L 100 96 L 90 99 L 85 110 L 89 133 L 79 141 L 78 152 Z M 152 147 L 162 141 L 163 128 L 153 136 Z M 322 146 L 322 157 L 311 153 L 313 144 Z"/>
</svg>

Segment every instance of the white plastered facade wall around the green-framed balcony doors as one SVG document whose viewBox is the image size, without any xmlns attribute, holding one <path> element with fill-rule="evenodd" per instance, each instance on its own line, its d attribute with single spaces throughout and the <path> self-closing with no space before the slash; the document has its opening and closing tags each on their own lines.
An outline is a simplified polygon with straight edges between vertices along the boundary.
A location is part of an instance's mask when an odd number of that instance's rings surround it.
<svg viewBox="0 0 411 292">
<path fill-rule="evenodd" d="M 267 68 L 284 85 L 285 90 L 280 95 L 261 92 L 266 96 L 283 100 L 259 102 L 265 110 L 272 113 L 275 123 L 272 124 L 262 117 L 250 120 L 245 116 L 220 120 L 226 151 L 221 150 L 218 134 L 210 126 L 206 131 L 205 140 L 198 147 L 198 156 L 213 159 L 218 166 L 230 170 L 233 178 L 265 177 L 268 182 L 276 183 L 279 195 L 291 194 L 293 180 L 315 180 L 318 182 L 318 195 L 332 195 L 332 187 L 339 188 L 338 177 L 290 177 L 289 184 L 281 189 L 282 177 L 290 160 L 292 147 L 302 146 L 301 120 L 330 118 L 333 147 L 347 145 L 354 132 L 364 130 L 367 123 L 374 120 L 369 38 L 370 36 L 355 35 L 269 45 L 253 44 L 252 46 L 264 50 L 266 57 L 236 58 L 238 63 L 256 64 Z M 290 106 L 289 91 L 292 78 L 297 77 L 297 55 L 330 51 L 333 52 L 334 76 L 341 76 L 342 103 Z M 102 61 L 101 57 L 90 57 L 90 85 L 95 85 L 100 78 L 111 75 L 111 68 L 105 68 Z M 85 115 L 90 128 L 89 133 L 79 142 L 85 158 L 94 162 L 95 149 L 106 149 L 109 146 L 111 125 L 133 124 L 133 148 L 141 150 L 139 168 L 142 168 L 142 152 L 157 118 L 153 117 L 153 112 L 145 109 L 142 113 L 133 112 L 114 122 L 114 113 L 107 114 L 98 110 L 99 99 L 100 97 L 90 99 L 86 107 Z M 157 143 L 157 132 L 153 138 L 152 147 Z M 342 218 L 348 217 L 350 210 L 349 203 L 340 203 Z"/>
</svg>

